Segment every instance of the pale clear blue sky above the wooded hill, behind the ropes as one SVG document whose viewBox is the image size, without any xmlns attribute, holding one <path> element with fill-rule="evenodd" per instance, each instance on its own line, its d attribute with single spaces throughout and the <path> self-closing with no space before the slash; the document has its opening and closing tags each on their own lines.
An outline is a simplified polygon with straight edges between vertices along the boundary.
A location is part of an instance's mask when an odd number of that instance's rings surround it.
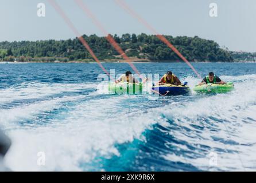
<svg viewBox="0 0 256 183">
<path fill-rule="evenodd" d="M 45 3 L 46 17 L 37 17 L 37 3 Z M 82 34 L 103 35 L 72 0 L 58 0 Z M 211 2 L 218 17 L 209 16 Z M 109 33 L 151 32 L 114 0 L 84 0 Z M 256 51 L 255 0 L 126 0 L 159 33 L 212 39 L 230 50 Z M 0 0 L 0 41 L 75 38 L 46 0 Z"/>
</svg>

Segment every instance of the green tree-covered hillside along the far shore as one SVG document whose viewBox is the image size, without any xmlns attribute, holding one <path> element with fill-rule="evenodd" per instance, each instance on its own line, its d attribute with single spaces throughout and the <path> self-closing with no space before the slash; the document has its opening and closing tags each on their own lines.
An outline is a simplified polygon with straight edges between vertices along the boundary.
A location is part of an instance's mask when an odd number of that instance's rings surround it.
<svg viewBox="0 0 256 183">
<path fill-rule="evenodd" d="M 113 36 L 131 61 L 171 62 L 181 59 L 156 35 L 123 34 Z M 241 53 L 222 49 L 218 43 L 197 36 L 172 37 L 165 35 L 181 54 L 191 62 L 255 61 L 255 53 Z M 83 35 L 100 61 L 123 61 L 105 37 Z M 0 42 L 0 61 L 5 62 L 92 62 L 94 59 L 78 38 L 48 41 Z"/>
</svg>

